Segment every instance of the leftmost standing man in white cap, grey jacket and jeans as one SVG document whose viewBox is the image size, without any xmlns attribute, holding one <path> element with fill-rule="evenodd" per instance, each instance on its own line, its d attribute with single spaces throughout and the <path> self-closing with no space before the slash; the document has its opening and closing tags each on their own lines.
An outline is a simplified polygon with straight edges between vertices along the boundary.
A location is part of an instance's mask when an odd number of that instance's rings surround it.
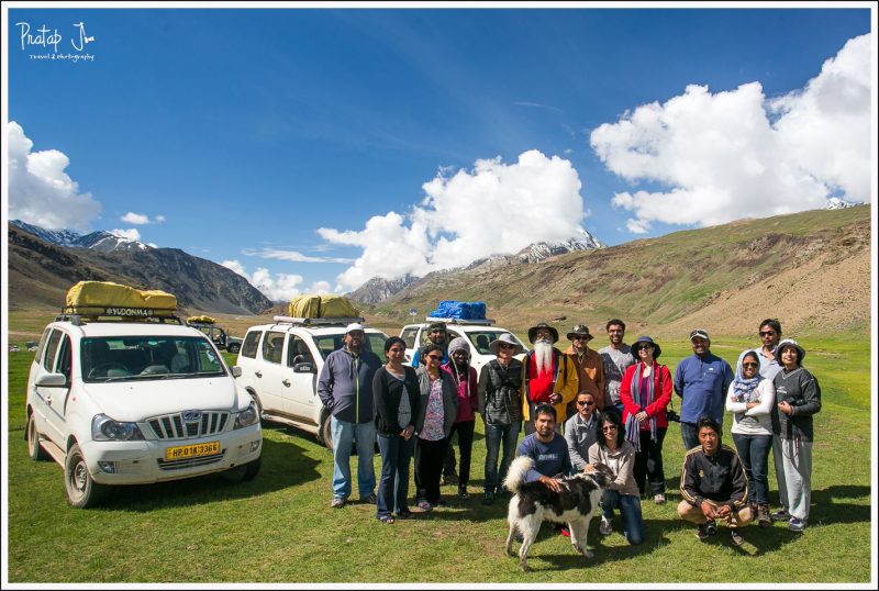
<svg viewBox="0 0 879 591">
<path fill-rule="evenodd" d="M 333 434 L 333 500 L 340 509 L 352 492 L 351 447 L 357 444 L 357 486 L 360 500 L 376 502 L 376 410 L 372 403 L 372 378 L 381 367 L 378 356 L 363 348 L 364 327 L 348 324 L 345 346 L 326 356 L 318 380 L 318 395 L 330 411 Z"/>
</svg>

